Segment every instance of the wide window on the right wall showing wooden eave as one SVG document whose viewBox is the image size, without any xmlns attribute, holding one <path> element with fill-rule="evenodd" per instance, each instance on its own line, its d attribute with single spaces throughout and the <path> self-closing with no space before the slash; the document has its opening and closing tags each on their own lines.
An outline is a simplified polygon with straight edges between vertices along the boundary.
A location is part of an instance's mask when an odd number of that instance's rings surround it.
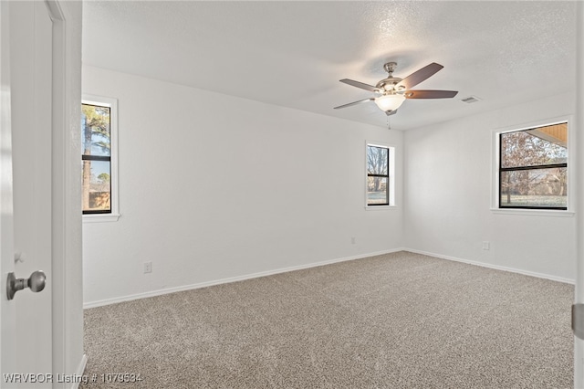
<svg viewBox="0 0 584 389">
<path fill-rule="evenodd" d="M 499 133 L 499 208 L 568 209 L 568 122 Z"/>
</svg>

